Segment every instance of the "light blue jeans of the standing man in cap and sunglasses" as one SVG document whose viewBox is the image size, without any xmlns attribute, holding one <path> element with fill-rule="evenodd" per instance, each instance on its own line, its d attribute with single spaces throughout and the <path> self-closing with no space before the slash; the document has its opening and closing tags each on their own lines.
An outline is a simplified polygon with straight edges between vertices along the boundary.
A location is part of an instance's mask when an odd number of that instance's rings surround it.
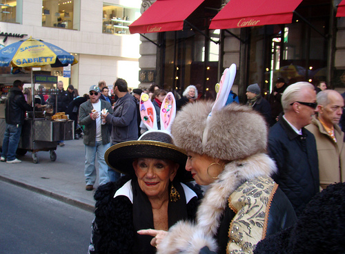
<svg viewBox="0 0 345 254">
<path fill-rule="evenodd" d="M 97 178 L 97 170 L 95 161 L 97 156 L 98 171 L 99 171 L 99 185 L 109 182 L 108 165 L 104 160 L 106 149 L 110 147 L 110 143 L 102 145 L 102 141 L 96 141 L 95 147 L 85 145 L 85 170 L 86 185 L 94 185 Z"/>
</svg>

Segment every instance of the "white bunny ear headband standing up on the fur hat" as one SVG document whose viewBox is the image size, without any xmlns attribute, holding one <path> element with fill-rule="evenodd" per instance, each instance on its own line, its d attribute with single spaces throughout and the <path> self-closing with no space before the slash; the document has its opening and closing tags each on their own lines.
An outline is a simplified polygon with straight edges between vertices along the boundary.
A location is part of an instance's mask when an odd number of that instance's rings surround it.
<svg viewBox="0 0 345 254">
<path fill-rule="evenodd" d="M 233 87 L 233 83 L 235 81 L 236 76 L 236 65 L 233 63 L 229 68 L 226 68 L 221 75 L 219 84 L 216 85 L 216 92 L 217 98 L 215 100 L 215 104 L 212 107 L 210 114 L 207 117 L 206 128 L 204 129 L 204 134 L 202 135 L 202 143 L 203 145 L 206 144 L 208 138 L 208 123 L 212 120 L 213 112 L 217 112 L 221 110 L 226 104 L 226 100 L 228 99 L 228 95 L 231 91 L 231 87 Z"/>
</svg>

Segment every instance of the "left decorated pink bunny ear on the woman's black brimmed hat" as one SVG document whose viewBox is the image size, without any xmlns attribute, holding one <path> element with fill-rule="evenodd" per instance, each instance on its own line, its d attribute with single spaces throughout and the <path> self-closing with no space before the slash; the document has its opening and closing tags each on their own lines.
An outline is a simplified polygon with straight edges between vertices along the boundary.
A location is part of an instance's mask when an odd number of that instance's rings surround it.
<svg viewBox="0 0 345 254">
<path fill-rule="evenodd" d="M 157 129 L 156 109 L 148 97 L 148 94 L 145 93 L 141 93 L 140 96 L 140 116 L 149 130 Z"/>
</svg>

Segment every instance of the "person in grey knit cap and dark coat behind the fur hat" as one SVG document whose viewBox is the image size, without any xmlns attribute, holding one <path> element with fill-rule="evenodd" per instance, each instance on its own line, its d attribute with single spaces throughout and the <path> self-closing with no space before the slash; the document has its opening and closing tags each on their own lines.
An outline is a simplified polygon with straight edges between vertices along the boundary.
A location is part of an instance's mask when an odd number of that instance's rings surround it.
<svg viewBox="0 0 345 254">
<path fill-rule="evenodd" d="M 270 103 L 260 94 L 261 89 L 257 83 L 248 85 L 246 96 L 248 101 L 246 105 L 253 107 L 253 109 L 264 116 L 267 125 L 271 125 L 272 117 L 270 114 Z"/>
</svg>

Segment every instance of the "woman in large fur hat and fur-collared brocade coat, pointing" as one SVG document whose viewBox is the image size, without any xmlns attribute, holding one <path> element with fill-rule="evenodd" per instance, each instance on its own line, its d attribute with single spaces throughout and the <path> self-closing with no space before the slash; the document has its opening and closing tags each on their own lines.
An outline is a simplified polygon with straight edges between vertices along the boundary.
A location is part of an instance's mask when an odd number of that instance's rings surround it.
<svg viewBox="0 0 345 254">
<path fill-rule="evenodd" d="M 155 236 L 157 253 L 253 253 L 257 242 L 295 222 L 286 195 L 270 178 L 275 162 L 266 153 L 264 118 L 246 106 L 231 104 L 212 112 L 213 104 L 188 104 L 172 125 L 175 144 L 187 151 L 186 170 L 208 185 L 196 224 L 178 222 Z"/>
</svg>

